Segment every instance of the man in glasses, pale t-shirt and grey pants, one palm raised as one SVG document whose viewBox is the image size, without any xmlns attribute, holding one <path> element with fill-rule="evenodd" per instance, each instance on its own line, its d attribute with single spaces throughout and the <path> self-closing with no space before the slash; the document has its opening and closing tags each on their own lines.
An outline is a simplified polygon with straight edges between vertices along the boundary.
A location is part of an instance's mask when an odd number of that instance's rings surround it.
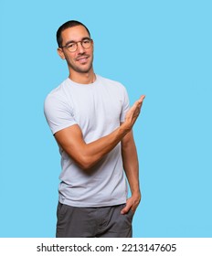
<svg viewBox="0 0 212 256">
<path fill-rule="evenodd" d="M 45 101 L 62 165 L 56 236 L 132 237 L 141 200 L 132 126 L 144 96 L 129 109 L 122 84 L 94 73 L 93 41 L 80 22 L 59 27 L 57 40 L 69 78 Z M 123 170 L 132 192 L 128 199 Z"/>
</svg>

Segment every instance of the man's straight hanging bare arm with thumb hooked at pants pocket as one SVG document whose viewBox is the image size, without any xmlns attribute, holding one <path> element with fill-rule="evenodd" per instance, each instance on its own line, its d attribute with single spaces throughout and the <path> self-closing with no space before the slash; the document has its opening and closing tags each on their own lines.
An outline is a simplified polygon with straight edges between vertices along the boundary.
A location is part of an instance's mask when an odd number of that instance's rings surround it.
<svg viewBox="0 0 212 256">
<path fill-rule="evenodd" d="M 126 207 L 122 208 L 122 214 L 125 214 L 130 209 L 134 212 L 141 200 L 139 187 L 139 163 L 132 132 L 128 133 L 122 139 L 122 161 L 132 192 L 132 197 L 127 200 Z"/>
</svg>

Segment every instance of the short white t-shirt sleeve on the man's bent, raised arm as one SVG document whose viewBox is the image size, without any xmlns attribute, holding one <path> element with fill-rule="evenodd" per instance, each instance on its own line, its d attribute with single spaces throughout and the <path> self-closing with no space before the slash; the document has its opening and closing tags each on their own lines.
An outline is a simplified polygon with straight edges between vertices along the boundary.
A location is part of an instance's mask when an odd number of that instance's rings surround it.
<svg viewBox="0 0 212 256">
<path fill-rule="evenodd" d="M 53 134 L 77 123 L 69 102 L 58 95 L 48 95 L 44 102 L 44 114 Z"/>
</svg>

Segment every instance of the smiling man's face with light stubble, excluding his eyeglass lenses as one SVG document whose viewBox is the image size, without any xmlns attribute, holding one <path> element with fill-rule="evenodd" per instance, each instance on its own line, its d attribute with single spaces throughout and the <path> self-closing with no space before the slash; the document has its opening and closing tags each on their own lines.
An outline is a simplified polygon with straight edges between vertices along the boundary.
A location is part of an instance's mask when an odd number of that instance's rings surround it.
<svg viewBox="0 0 212 256">
<path fill-rule="evenodd" d="M 67 46 L 71 42 L 79 42 L 78 48 L 74 52 L 69 52 L 68 48 L 58 48 L 58 54 L 62 59 L 66 59 L 70 72 L 88 73 L 92 69 L 93 43 L 90 48 L 83 48 L 80 41 L 90 38 L 88 31 L 83 26 L 69 27 L 62 34 L 62 46 Z"/>
</svg>

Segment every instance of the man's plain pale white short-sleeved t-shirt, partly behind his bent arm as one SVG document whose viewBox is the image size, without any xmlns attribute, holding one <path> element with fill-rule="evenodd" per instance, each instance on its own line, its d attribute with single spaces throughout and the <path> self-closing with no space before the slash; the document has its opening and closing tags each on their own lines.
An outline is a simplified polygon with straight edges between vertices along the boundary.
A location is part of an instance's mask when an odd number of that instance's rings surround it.
<svg viewBox="0 0 212 256">
<path fill-rule="evenodd" d="M 129 99 L 121 83 L 96 76 L 91 84 L 64 80 L 45 101 L 45 115 L 52 133 L 78 124 L 84 141 L 100 139 L 124 121 Z M 126 202 L 127 184 L 122 166 L 121 143 L 87 173 L 59 148 L 60 203 L 73 207 L 104 207 Z"/>
</svg>

